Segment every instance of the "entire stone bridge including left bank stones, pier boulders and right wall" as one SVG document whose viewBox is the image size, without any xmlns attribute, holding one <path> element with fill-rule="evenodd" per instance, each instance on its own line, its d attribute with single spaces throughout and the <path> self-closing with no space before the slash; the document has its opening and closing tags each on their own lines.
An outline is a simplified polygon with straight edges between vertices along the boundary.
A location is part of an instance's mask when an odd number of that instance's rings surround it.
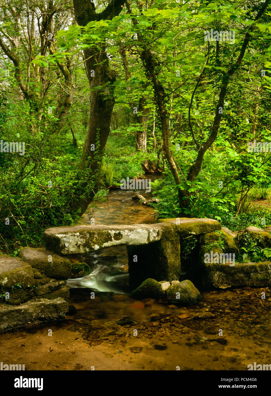
<svg viewBox="0 0 271 396">
<path fill-rule="evenodd" d="M 249 232 L 259 246 L 271 247 L 271 232 L 255 227 L 240 232 Z M 205 263 L 205 254 L 212 251 L 238 253 L 240 241 L 239 235 L 212 219 L 55 227 L 45 230 L 44 236 L 46 249 L 23 247 L 17 258 L 0 255 L 0 297 L 8 298 L 0 307 L 0 333 L 63 320 L 72 308 L 66 286 L 72 268 L 69 255 L 110 246 L 127 247 L 130 288 L 136 299 L 147 293 L 159 301 L 191 305 L 201 298 L 199 290 L 271 286 L 270 261 Z"/>
</svg>

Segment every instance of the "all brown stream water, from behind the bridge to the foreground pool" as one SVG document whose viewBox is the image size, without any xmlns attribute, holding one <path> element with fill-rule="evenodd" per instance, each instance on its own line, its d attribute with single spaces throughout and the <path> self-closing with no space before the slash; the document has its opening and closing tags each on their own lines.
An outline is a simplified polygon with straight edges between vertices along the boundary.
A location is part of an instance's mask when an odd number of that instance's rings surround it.
<svg viewBox="0 0 271 396">
<path fill-rule="evenodd" d="M 154 223 L 154 209 L 133 202 L 132 195 L 109 191 L 80 223 L 91 217 L 95 224 Z M 128 296 L 125 246 L 70 259 L 92 269 L 67 282 L 76 313 L 58 324 L 0 335 L 4 364 L 25 364 L 26 370 L 247 370 L 254 362 L 271 364 L 269 288 L 209 291 L 198 305 L 176 307 Z"/>
</svg>

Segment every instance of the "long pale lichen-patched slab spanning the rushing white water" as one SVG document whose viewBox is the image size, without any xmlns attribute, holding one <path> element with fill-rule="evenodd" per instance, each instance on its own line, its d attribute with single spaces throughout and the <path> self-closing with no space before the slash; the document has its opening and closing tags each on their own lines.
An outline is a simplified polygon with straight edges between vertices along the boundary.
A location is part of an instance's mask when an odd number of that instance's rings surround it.
<svg viewBox="0 0 271 396">
<path fill-rule="evenodd" d="M 146 245 L 162 238 L 164 224 L 76 225 L 47 228 L 45 246 L 61 255 L 87 253 L 109 246 Z"/>
</svg>

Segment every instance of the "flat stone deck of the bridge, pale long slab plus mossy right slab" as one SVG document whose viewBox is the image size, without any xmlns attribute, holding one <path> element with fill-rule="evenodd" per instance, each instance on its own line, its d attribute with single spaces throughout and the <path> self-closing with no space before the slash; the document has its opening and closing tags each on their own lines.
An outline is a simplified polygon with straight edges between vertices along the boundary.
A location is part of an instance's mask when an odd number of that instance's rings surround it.
<svg viewBox="0 0 271 396">
<path fill-rule="evenodd" d="M 177 223 L 176 223 L 177 221 Z M 75 225 L 47 228 L 44 232 L 47 249 L 60 255 L 87 253 L 109 246 L 146 245 L 162 239 L 171 228 L 176 235 L 202 234 L 220 230 L 213 219 L 162 219 L 157 224 L 133 225 Z"/>
</svg>

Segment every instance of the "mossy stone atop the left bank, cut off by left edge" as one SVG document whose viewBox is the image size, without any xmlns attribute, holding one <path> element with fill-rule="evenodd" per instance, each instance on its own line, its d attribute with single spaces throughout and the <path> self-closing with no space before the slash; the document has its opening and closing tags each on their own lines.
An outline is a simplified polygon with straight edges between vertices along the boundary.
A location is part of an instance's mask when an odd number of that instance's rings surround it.
<svg viewBox="0 0 271 396">
<path fill-rule="evenodd" d="M 0 255 L 0 289 L 10 289 L 21 284 L 22 287 L 34 285 L 34 273 L 30 265 L 6 254 Z"/>
</svg>

